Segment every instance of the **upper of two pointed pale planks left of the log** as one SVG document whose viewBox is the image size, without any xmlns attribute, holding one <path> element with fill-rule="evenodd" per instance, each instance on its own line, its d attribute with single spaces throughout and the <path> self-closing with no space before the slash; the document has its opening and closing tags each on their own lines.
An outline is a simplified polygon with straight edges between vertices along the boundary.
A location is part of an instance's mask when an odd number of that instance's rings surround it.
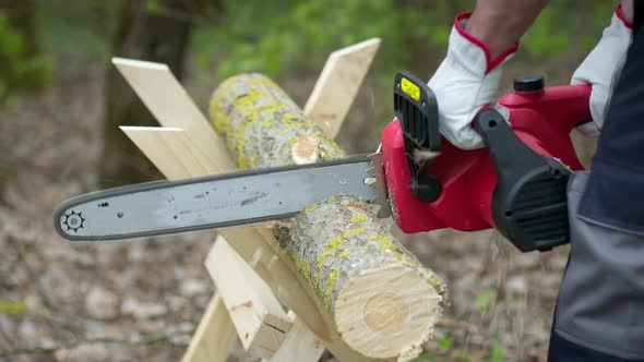
<svg viewBox="0 0 644 362">
<path fill-rule="evenodd" d="M 218 169 L 234 167 L 219 136 L 168 65 L 123 58 L 111 61 L 163 126 L 182 129 Z"/>
</svg>

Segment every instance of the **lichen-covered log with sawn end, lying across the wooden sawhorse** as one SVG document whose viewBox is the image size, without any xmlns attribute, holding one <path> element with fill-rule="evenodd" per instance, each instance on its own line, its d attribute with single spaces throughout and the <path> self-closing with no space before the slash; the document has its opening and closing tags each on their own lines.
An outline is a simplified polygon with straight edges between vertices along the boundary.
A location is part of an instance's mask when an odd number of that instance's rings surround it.
<svg viewBox="0 0 644 362">
<path fill-rule="evenodd" d="M 260 74 L 222 83 L 210 112 L 240 168 L 345 156 Z M 274 231 L 353 349 L 369 358 L 408 357 L 431 337 L 444 286 L 393 238 L 371 205 L 333 197 L 308 207 L 290 228 Z"/>
</svg>

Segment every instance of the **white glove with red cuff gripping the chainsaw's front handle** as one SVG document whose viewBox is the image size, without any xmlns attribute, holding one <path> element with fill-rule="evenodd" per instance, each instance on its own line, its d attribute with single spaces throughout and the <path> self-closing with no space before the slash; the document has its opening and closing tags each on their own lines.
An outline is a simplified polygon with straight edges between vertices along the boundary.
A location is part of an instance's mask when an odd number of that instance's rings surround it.
<svg viewBox="0 0 644 362">
<path fill-rule="evenodd" d="M 439 104 L 439 125 L 451 144 L 473 149 L 484 146 L 480 135 L 470 126 L 481 107 L 496 106 L 508 119 L 508 110 L 497 101 L 497 90 L 503 64 L 510 60 L 518 44 L 497 59 L 490 59 L 488 47 L 465 32 L 469 14 L 454 20 L 448 56 L 428 85 Z"/>
</svg>

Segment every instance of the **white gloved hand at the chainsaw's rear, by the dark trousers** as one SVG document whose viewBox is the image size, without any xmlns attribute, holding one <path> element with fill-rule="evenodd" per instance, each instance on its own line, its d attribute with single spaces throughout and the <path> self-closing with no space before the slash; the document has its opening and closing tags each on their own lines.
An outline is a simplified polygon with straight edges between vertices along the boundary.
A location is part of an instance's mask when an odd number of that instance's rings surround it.
<svg viewBox="0 0 644 362">
<path fill-rule="evenodd" d="M 631 44 L 631 28 L 632 25 L 621 13 L 621 5 L 618 5 L 610 21 L 610 25 L 601 35 L 601 39 L 572 76 L 571 84 L 589 83 L 593 85 L 593 92 L 591 93 L 591 114 L 593 116 L 594 122 L 586 122 L 576 128 L 577 131 L 587 136 L 599 136 L 599 130 L 604 124 L 606 104 L 617 82 Z"/>
</svg>

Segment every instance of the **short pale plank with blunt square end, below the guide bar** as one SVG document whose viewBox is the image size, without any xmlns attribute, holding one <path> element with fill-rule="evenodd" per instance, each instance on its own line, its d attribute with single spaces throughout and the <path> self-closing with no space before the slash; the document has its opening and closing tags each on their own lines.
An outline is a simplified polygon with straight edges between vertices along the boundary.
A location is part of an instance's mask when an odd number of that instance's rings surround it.
<svg viewBox="0 0 644 362">
<path fill-rule="evenodd" d="M 273 357 L 291 323 L 272 291 L 222 236 L 211 249 L 205 266 L 243 347 L 253 355 Z"/>
</svg>

